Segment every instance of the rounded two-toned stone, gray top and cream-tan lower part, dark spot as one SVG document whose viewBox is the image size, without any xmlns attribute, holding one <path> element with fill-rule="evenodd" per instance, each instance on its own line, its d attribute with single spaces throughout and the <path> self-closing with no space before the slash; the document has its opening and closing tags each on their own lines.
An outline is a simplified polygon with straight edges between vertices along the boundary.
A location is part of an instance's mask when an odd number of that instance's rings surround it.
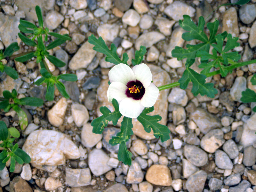
<svg viewBox="0 0 256 192">
<path fill-rule="evenodd" d="M 200 146 L 208 153 L 214 153 L 225 142 L 223 132 L 220 129 L 213 129 L 202 137 Z"/>
</svg>

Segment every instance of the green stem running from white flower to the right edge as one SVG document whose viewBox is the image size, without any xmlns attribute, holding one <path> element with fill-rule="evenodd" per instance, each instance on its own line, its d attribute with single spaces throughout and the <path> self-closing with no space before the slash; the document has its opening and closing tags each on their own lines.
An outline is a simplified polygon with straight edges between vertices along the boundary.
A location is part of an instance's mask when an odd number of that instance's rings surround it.
<svg viewBox="0 0 256 192">
<path fill-rule="evenodd" d="M 250 61 L 244 61 L 244 62 L 240 62 L 240 63 L 235 63 L 235 64 L 232 63 L 232 65 L 230 65 L 228 67 L 225 67 L 224 69 L 227 69 L 228 71 L 230 71 L 230 70 L 233 70 L 233 69 L 238 68 L 238 67 L 242 67 L 242 66 L 245 66 L 245 65 L 250 65 L 252 63 L 256 63 L 256 59 L 250 60 Z M 207 73 L 206 76 L 210 77 L 210 76 L 214 76 L 214 75 L 217 75 L 217 74 L 220 74 L 220 70 L 216 70 L 216 71 L 212 71 L 211 73 Z M 174 82 L 174 83 L 171 83 L 171 84 L 162 85 L 162 86 L 157 87 L 157 88 L 159 89 L 159 91 L 162 91 L 164 89 L 170 89 L 170 88 L 176 87 L 178 85 L 180 85 L 179 82 Z"/>
</svg>

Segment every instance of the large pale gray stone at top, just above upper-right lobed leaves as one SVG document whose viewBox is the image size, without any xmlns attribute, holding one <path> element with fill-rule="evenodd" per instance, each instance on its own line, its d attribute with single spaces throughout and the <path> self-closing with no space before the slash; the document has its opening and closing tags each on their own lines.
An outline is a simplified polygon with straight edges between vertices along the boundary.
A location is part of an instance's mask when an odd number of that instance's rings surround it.
<svg viewBox="0 0 256 192">
<path fill-rule="evenodd" d="M 174 1 L 164 9 L 164 13 L 175 21 L 183 20 L 183 15 L 194 17 L 196 10 L 180 1 Z"/>
</svg>

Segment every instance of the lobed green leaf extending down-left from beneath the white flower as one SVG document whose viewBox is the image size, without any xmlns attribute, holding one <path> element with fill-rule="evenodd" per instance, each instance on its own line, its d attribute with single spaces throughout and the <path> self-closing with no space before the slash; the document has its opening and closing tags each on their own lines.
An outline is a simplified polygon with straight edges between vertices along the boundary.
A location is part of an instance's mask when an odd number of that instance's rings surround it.
<svg viewBox="0 0 256 192">
<path fill-rule="evenodd" d="M 115 111 L 113 113 L 111 113 L 111 111 L 107 107 L 100 107 L 100 112 L 103 115 L 92 121 L 91 125 L 93 127 L 93 133 L 101 134 L 104 130 L 104 127 L 108 125 L 108 121 L 112 121 L 113 125 L 117 124 L 118 119 L 120 119 L 122 114 L 119 112 L 119 106 L 116 99 L 112 100 L 112 105 L 115 108 Z"/>
</svg>

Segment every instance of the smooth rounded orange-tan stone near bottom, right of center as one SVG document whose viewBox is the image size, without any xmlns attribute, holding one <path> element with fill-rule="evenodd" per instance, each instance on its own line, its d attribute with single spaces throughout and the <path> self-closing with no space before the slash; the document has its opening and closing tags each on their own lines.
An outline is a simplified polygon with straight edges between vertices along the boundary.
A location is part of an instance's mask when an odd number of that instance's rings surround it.
<svg viewBox="0 0 256 192">
<path fill-rule="evenodd" d="M 172 176 L 170 169 L 165 165 L 152 165 L 146 173 L 146 180 L 154 185 L 171 186 Z"/>
</svg>

